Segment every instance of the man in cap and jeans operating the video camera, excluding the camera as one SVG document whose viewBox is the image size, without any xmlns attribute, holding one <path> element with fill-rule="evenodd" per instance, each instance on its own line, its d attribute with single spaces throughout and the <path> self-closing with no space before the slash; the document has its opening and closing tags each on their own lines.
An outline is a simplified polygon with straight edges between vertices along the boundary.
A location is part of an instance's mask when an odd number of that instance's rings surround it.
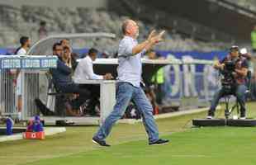
<svg viewBox="0 0 256 165">
<path fill-rule="evenodd" d="M 227 61 L 235 64 L 235 71 L 232 73 L 233 77 L 235 78 L 235 88 L 232 88 L 232 91 L 234 92 L 232 92 L 231 94 L 235 95 L 237 101 L 239 102 L 239 119 L 245 119 L 245 92 L 247 90 L 246 77 L 248 73 L 248 61 L 243 56 L 239 56 L 238 46 L 232 46 L 230 48 L 230 54 L 228 54 L 225 59 L 217 61 L 213 67 L 219 69 L 220 71 L 223 71 L 225 69 L 225 64 Z M 216 106 L 218 105 L 220 98 L 224 97 L 225 95 L 227 95 L 227 93 L 225 92 L 224 87 L 221 87 L 220 90 L 216 92 L 211 101 L 211 107 L 208 111 L 207 119 L 212 119 L 214 117 Z"/>
</svg>

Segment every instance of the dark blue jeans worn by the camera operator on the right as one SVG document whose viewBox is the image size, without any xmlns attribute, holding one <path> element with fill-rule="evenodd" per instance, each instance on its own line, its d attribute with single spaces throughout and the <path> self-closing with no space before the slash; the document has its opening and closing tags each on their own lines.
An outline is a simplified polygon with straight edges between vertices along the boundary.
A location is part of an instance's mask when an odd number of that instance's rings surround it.
<svg viewBox="0 0 256 165">
<path fill-rule="evenodd" d="M 245 99 L 246 99 L 246 92 L 247 87 L 244 84 L 238 85 L 236 87 L 235 91 L 231 94 L 235 95 L 239 106 L 240 106 L 240 113 L 241 115 L 245 115 Z M 212 101 L 211 101 L 211 108 L 209 111 L 209 115 L 214 115 L 214 112 L 216 111 L 216 106 L 219 103 L 219 100 L 221 97 L 224 97 L 227 95 L 223 88 L 221 88 L 216 94 L 214 95 Z"/>
</svg>

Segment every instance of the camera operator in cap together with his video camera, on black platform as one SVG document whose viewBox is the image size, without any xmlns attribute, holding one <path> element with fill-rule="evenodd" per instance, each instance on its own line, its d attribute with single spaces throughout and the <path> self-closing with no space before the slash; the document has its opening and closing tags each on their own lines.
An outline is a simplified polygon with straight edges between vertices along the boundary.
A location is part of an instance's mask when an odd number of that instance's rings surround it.
<svg viewBox="0 0 256 165">
<path fill-rule="evenodd" d="M 232 46 L 230 54 L 225 59 L 214 64 L 214 68 L 219 69 L 224 76 L 221 80 L 221 88 L 211 101 L 211 108 L 208 111 L 207 119 L 212 119 L 216 111 L 216 106 L 221 97 L 226 95 L 234 95 L 237 98 L 240 106 L 240 119 L 245 119 L 245 92 L 246 76 L 248 73 L 248 61 L 242 56 L 239 56 L 239 47 Z"/>
</svg>

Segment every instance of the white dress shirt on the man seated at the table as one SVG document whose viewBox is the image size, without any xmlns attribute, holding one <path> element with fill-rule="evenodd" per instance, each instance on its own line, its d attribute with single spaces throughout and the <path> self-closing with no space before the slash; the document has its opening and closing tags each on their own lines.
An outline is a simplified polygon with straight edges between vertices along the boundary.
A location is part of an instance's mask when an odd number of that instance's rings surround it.
<svg viewBox="0 0 256 165">
<path fill-rule="evenodd" d="M 73 74 L 73 81 L 79 83 L 80 80 L 102 80 L 102 75 L 93 72 L 92 59 L 89 55 L 81 59 Z"/>
</svg>

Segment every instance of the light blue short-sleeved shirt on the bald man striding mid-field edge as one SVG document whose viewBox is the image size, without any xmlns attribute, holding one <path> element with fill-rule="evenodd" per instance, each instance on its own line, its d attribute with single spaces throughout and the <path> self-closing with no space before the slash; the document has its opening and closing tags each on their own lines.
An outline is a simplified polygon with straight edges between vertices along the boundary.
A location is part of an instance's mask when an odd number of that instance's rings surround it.
<svg viewBox="0 0 256 165">
<path fill-rule="evenodd" d="M 119 44 L 118 48 L 118 81 L 130 82 L 135 87 L 140 87 L 142 64 L 141 56 L 145 54 L 145 50 L 139 54 L 132 55 L 132 49 L 138 45 L 138 41 L 125 36 Z"/>
</svg>

